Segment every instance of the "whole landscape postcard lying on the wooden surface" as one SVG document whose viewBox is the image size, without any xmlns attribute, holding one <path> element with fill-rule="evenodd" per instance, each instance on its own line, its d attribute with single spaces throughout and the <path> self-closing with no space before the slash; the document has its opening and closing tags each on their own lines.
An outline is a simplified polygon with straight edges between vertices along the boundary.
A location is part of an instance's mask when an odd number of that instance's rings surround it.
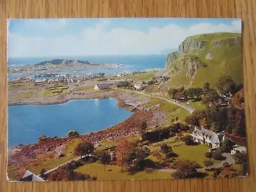
<svg viewBox="0 0 256 192">
<path fill-rule="evenodd" d="M 248 175 L 241 33 L 240 19 L 9 19 L 7 179 Z"/>
</svg>

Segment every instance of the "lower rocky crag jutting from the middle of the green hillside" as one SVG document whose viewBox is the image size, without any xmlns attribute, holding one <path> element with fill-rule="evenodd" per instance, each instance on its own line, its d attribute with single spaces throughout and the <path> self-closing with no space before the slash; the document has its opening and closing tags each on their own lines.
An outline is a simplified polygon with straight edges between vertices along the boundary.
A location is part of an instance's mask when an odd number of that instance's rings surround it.
<svg viewBox="0 0 256 192">
<path fill-rule="evenodd" d="M 180 60 L 173 63 L 170 70 L 175 73 L 187 70 L 186 76 L 194 76 L 199 68 L 207 67 L 207 65 L 200 60 L 198 56 L 184 56 Z"/>
</svg>

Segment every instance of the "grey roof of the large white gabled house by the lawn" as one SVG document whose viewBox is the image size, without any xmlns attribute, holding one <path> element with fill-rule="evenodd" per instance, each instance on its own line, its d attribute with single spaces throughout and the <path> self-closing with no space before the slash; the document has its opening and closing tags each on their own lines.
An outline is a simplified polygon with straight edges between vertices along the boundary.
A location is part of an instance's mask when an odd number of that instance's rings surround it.
<svg viewBox="0 0 256 192">
<path fill-rule="evenodd" d="M 195 136 L 201 136 L 202 134 L 203 136 L 209 138 L 209 140 L 211 140 L 212 143 L 217 143 L 217 144 L 220 144 L 220 141 L 223 140 L 223 136 L 224 136 L 224 134 L 221 132 L 216 133 L 208 129 L 204 129 L 204 127 L 202 127 L 202 129 L 197 129 L 195 127 L 193 134 Z"/>
</svg>

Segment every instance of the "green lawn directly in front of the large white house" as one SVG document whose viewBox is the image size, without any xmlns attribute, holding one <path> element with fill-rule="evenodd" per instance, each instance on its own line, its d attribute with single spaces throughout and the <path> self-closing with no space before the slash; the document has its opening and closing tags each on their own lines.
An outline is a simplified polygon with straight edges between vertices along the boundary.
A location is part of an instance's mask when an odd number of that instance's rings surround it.
<svg viewBox="0 0 256 192">
<path fill-rule="evenodd" d="M 200 164 L 200 166 L 204 167 L 204 161 L 207 158 L 204 156 L 205 152 L 209 147 L 205 145 L 182 145 L 179 147 L 173 147 L 172 150 L 175 154 L 179 155 L 179 159 L 189 159 L 190 161 L 196 161 L 196 163 Z M 220 161 L 212 160 L 214 164 L 220 163 Z"/>
</svg>

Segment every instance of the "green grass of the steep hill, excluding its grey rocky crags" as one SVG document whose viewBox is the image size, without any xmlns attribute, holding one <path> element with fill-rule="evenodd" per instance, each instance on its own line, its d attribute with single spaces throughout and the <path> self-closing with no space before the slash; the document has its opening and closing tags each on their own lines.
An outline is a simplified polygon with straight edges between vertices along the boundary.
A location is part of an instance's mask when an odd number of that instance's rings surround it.
<svg viewBox="0 0 256 192">
<path fill-rule="evenodd" d="M 199 86 L 208 81 L 212 88 L 215 88 L 215 84 L 218 77 L 222 75 L 232 76 L 235 81 L 243 82 L 243 63 L 242 63 L 242 50 L 241 45 L 227 45 L 232 44 L 233 36 L 239 35 L 238 33 L 213 33 L 209 35 L 196 35 L 189 37 L 188 40 L 195 42 L 205 41 L 205 49 L 198 51 L 200 60 L 207 64 L 207 67 L 200 68 L 195 75 L 195 79 L 186 77 L 187 69 L 185 68 L 179 74 L 174 74 L 173 77 L 166 83 L 165 88 L 170 86 Z M 225 45 L 212 49 L 214 41 L 224 41 Z M 213 60 L 205 59 L 206 54 L 212 49 Z M 189 52 L 189 54 L 193 52 Z M 195 53 L 195 52 L 194 52 Z M 177 58 L 180 60 L 180 58 Z M 172 74 L 172 73 L 171 73 Z M 192 81 L 192 83 L 191 83 Z"/>
</svg>

